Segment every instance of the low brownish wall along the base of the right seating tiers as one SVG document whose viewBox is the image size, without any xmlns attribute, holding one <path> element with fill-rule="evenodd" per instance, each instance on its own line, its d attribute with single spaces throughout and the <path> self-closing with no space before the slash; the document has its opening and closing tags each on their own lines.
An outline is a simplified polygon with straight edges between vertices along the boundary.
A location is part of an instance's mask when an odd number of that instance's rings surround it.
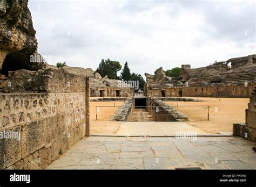
<svg viewBox="0 0 256 187">
<path fill-rule="evenodd" d="M 172 87 L 154 88 L 146 91 L 147 96 L 161 97 L 165 92 L 165 97 L 237 97 L 249 98 L 253 91 L 254 84 L 244 85 L 221 85 L 205 87 Z"/>
</svg>

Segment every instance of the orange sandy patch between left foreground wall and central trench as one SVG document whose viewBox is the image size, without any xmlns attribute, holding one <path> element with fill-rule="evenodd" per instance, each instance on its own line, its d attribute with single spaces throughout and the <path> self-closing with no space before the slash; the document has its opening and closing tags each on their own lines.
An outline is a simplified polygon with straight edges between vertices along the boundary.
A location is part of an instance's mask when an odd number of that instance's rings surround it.
<svg viewBox="0 0 256 187">
<path fill-rule="evenodd" d="M 119 121 L 109 121 L 110 116 L 122 106 L 124 102 L 90 102 L 90 119 L 91 119 L 91 134 L 98 133 L 115 133 L 120 127 Z M 104 106 L 104 107 L 100 107 Z M 111 106 L 111 107 L 106 107 Z M 96 107 L 99 107 L 97 112 L 98 120 L 96 120 Z"/>
</svg>

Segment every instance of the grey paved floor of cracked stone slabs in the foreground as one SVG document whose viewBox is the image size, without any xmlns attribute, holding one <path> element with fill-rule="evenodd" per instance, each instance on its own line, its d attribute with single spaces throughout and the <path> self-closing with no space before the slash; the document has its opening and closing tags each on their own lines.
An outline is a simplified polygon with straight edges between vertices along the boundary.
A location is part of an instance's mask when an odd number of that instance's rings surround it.
<svg viewBox="0 0 256 187">
<path fill-rule="evenodd" d="M 253 146 L 235 137 L 91 136 L 46 169 L 256 169 Z"/>
</svg>

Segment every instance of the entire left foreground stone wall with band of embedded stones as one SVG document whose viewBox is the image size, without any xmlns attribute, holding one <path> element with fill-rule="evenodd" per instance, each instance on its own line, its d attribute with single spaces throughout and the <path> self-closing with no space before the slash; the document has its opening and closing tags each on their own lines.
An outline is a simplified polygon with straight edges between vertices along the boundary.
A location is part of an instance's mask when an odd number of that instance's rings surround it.
<svg viewBox="0 0 256 187">
<path fill-rule="evenodd" d="M 45 168 L 85 135 L 84 78 L 18 70 L 9 81 L 0 94 L 0 169 Z"/>
</svg>

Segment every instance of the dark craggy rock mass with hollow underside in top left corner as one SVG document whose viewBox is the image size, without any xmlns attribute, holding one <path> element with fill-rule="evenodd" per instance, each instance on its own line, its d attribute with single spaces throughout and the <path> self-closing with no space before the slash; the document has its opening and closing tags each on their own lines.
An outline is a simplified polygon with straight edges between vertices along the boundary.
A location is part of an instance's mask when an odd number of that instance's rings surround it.
<svg viewBox="0 0 256 187">
<path fill-rule="evenodd" d="M 0 71 L 28 69 L 37 52 L 28 0 L 0 1 Z"/>
</svg>

